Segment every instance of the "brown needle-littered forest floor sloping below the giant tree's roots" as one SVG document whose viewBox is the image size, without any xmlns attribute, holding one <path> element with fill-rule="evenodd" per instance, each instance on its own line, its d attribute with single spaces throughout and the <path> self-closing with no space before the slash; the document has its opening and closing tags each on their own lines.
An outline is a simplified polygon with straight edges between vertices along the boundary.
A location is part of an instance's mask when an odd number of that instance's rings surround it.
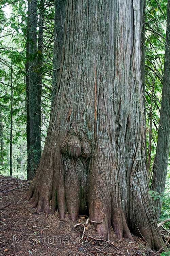
<svg viewBox="0 0 170 256">
<path fill-rule="evenodd" d="M 92 224 L 73 230 L 75 223 L 66 218 L 60 221 L 57 212 L 45 216 L 36 212 L 24 200 L 30 182 L 0 175 L 0 256 L 154 256 L 145 242 L 133 236 L 134 242 L 117 240 L 111 232 L 110 243 L 99 238 Z M 77 223 L 85 224 L 87 216 L 80 216 Z M 111 244 L 112 243 L 112 244 Z"/>
</svg>

